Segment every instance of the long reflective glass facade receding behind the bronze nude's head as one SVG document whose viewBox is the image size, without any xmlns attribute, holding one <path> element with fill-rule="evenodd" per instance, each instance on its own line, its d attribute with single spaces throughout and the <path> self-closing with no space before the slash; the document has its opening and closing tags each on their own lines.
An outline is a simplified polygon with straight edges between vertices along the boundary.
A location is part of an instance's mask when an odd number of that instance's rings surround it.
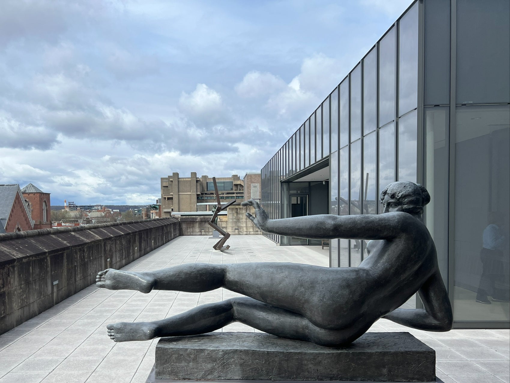
<svg viewBox="0 0 510 383">
<path fill-rule="evenodd" d="M 384 187 L 417 181 L 417 31 L 415 3 L 289 139 L 288 172 L 270 180 L 329 156 L 329 212 L 340 215 L 376 214 Z M 272 193 L 276 206 L 281 187 L 273 184 Z M 271 214 L 276 218 L 281 211 L 275 207 Z M 364 245 L 331 241 L 331 266 L 358 266 Z"/>
</svg>

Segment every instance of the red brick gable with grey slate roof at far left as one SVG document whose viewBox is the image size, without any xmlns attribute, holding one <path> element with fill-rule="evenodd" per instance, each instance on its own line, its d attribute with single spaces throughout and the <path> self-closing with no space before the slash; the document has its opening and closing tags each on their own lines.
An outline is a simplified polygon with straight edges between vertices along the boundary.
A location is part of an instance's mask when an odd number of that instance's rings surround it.
<svg viewBox="0 0 510 383">
<path fill-rule="evenodd" d="M 33 229 L 34 221 L 19 185 L 0 185 L 0 233 Z"/>
</svg>

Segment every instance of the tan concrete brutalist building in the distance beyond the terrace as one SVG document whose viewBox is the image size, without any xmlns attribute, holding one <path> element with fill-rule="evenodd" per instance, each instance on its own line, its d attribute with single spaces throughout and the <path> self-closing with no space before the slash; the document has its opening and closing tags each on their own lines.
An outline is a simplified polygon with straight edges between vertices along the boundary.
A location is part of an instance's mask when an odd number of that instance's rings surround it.
<svg viewBox="0 0 510 383">
<path fill-rule="evenodd" d="M 244 200 L 244 181 L 237 174 L 232 177 L 217 177 L 218 194 L 222 202 Z M 161 178 L 162 216 L 170 217 L 172 211 L 206 211 L 216 203 L 213 179 L 198 178 L 195 172 L 190 177 L 179 177 L 179 173 Z M 206 202 L 211 202 L 207 204 Z"/>
</svg>

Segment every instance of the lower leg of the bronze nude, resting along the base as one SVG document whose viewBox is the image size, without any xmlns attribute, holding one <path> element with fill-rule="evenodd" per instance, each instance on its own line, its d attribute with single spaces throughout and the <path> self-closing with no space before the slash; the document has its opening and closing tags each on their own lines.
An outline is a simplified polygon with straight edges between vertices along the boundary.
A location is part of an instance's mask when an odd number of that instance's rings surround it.
<svg viewBox="0 0 510 383">
<path fill-rule="evenodd" d="M 231 322 L 241 322 L 270 334 L 321 346 L 349 344 L 364 330 L 325 330 L 302 315 L 248 297 L 205 304 L 155 322 L 115 323 L 107 326 L 115 342 L 145 341 L 158 337 L 196 335 L 217 330 Z"/>
</svg>

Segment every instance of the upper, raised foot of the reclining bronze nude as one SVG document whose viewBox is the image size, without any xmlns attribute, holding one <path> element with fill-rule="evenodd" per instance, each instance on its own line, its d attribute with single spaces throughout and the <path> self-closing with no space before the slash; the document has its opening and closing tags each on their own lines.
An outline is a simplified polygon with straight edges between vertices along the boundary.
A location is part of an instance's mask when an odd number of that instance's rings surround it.
<svg viewBox="0 0 510 383">
<path fill-rule="evenodd" d="M 141 293 L 150 293 L 154 284 L 154 278 L 130 271 L 106 269 L 96 275 L 96 286 L 108 290 L 137 290 Z"/>
</svg>

